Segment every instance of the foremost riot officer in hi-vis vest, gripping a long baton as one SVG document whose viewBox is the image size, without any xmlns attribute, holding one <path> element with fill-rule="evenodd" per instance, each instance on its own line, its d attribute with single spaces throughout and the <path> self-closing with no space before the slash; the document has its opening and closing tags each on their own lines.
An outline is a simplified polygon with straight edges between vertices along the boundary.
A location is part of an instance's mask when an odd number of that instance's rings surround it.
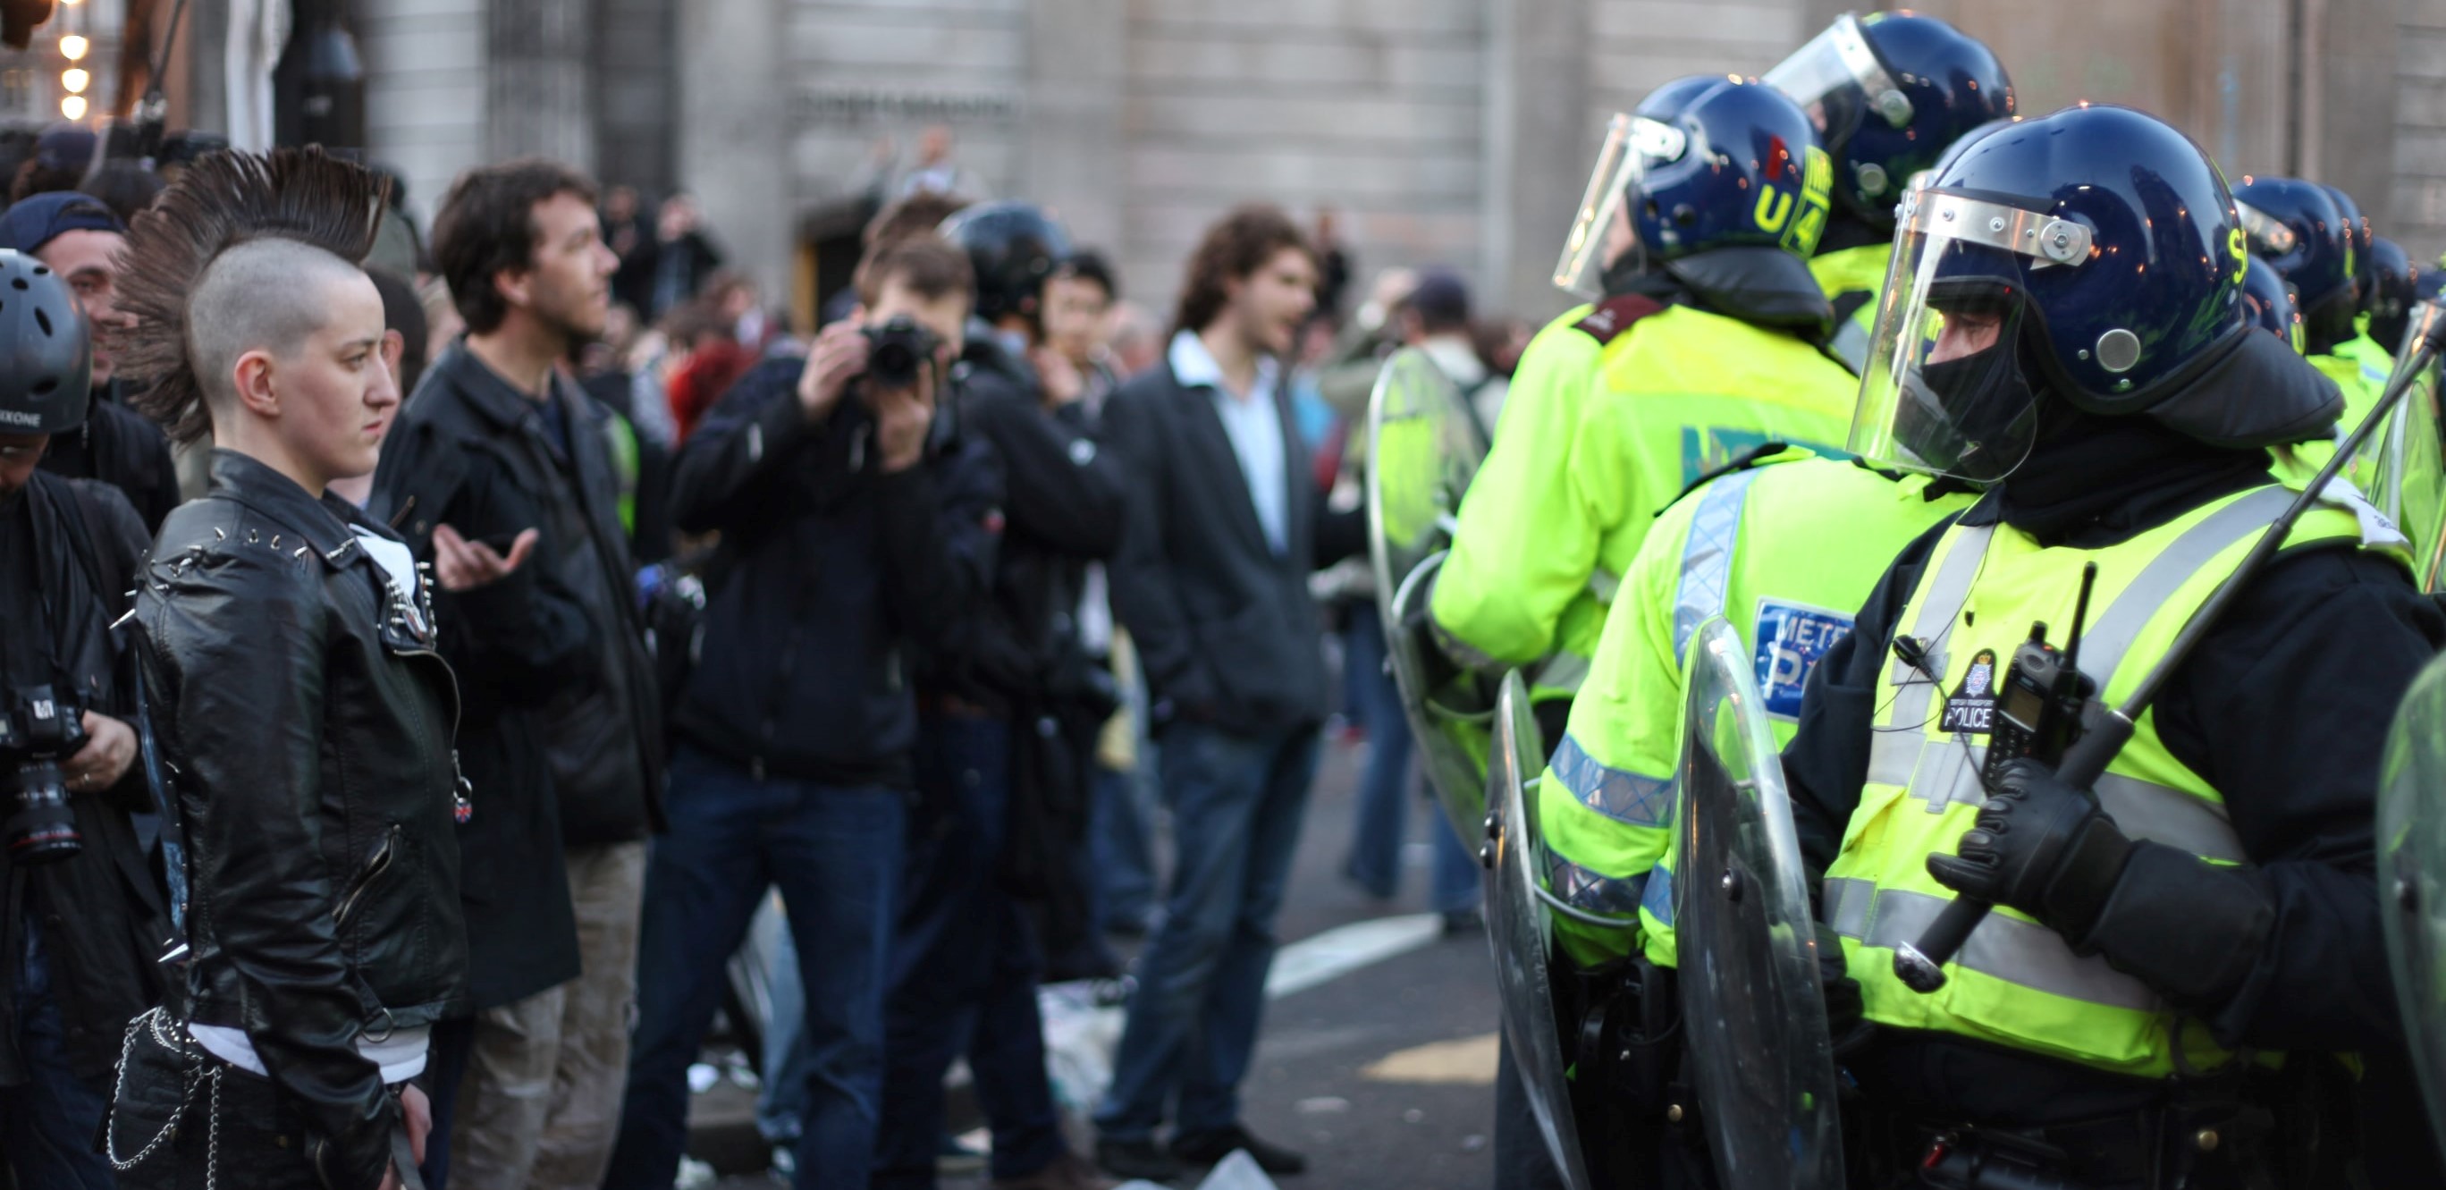
<svg viewBox="0 0 2446 1190">
<path fill-rule="evenodd" d="M 1852 448 L 1993 487 L 1896 558 L 1786 749 L 1879 1028 L 1849 1058 L 1874 1185 L 2333 1185 L 2304 1107 L 2351 1077 L 2329 1055 L 2402 1060 L 2370 994 L 2370 791 L 2446 617 L 2382 519 L 2316 507 L 2172 651 L 2294 500 L 2267 448 L 2341 404 L 2245 326 L 2243 245 L 2209 159 L 2104 105 L 1981 137 L 1905 206 Z M 1996 725 L 2008 659 L 2072 622 L 2084 566 L 2094 693 L 2174 666 L 2069 788 Z M 1998 908 L 1920 994 L 1896 948 L 1954 894 Z"/>
</svg>

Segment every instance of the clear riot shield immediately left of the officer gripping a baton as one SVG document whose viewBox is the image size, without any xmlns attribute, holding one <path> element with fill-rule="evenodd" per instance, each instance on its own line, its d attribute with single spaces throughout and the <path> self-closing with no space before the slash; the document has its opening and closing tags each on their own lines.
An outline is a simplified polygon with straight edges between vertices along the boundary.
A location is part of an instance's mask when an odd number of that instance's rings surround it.
<svg viewBox="0 0 2446 1190">
<path fill-rule="evenodd" d="M 1722 617 L 1710 619 L 1683 673 L 1673 930 L 1717 1183 L 1842 1190 L 1817 933 L 1749 649 Z"/>
</svg>

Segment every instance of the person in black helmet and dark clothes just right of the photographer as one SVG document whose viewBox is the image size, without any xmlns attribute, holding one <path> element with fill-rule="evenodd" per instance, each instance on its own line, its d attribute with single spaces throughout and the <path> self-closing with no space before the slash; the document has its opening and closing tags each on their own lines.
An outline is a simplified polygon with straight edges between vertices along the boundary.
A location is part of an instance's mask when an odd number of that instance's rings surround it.
<svg viewBox="0 0 2446 1190">
<path fill-rule="evenodd" d="M 885 1006 L 878 1190 L 929 1190 L 942 1151 L 944 1075 L 966 1053 L 991 1104 L 996 1188 L 1098 1185 L 1069 1151 L 1044 1075 L 1037 943 L 1091 935 L 1076 879 L 1086 847 L 1088 764 L 1113 713 L 1108 681 L 1079 646 L 1088 561 L 1120 539 L 1118 463 L 1086 433 L 1074 399 L 1052 411 L 1025 350 L 1062 228 L 1025 203 L 974 206 L 944 235 L 976 272 L 959 380 L 959 428 L 1003 477 L 991 600 L 971 607 L 969 646 L 917 673 L 917 791 L 900 938 Z"/>
</svg>

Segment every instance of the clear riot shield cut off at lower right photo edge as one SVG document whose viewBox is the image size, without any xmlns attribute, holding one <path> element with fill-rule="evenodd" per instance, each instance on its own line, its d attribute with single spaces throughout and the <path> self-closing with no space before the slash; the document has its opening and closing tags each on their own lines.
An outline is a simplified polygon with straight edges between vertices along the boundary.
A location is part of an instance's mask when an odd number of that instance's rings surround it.
<svg viewBox="0 0 2446 1190">
<path fill-rule="evenodd" d="M 2395 1004 L 2446 1143 L 2446 659 L 2412 683 L 2378 776 L 2378 894 Z"/>
</svg>

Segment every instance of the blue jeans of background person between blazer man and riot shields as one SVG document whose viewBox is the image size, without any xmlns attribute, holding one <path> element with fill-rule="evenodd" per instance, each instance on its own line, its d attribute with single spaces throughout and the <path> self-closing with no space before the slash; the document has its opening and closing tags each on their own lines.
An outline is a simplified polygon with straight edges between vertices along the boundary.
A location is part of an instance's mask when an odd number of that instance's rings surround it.
<svg viewBox="0 0 2446 1190">
<path fill-rule="evenodd" d="M 1370 896 L 1392 899 L 1402 891 L 1402 837 L 1409 835 L 1409 717 L 1402 715 L 1402 690 L 1384 673 L 1384 627 L 1375 602 L 1350 605 L 1350 629 L 1343 646 L 1343 681 L 1360 708 L 1367 730 L 1367 774 L 1360 779 L 1358 828 L 1350 833 L 1350 859 L 1343 872 Z M 1421 788 L 1424 788 L 1421 779 Z M 1433 793 L 1428 793 L 1433 798 Z M 1482 874 L 1477 857 L 1453 835 L 1441 808 L 1428 813 L 1426 835 L 1436 847 L 1428 908 L 1460 913 L 1477 908 Z"/>
</svg>

